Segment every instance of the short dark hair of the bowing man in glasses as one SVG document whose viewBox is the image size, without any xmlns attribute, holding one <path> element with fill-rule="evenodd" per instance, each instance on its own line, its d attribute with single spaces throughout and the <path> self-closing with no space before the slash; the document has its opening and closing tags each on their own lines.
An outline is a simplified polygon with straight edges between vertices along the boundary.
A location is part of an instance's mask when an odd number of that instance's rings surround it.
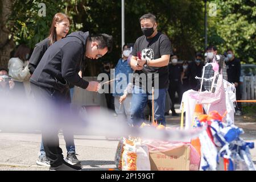
<svg viewBox="0 0 256 182">
<path fill-rule="evenodd" d="M 97 34 L 89 36 L 89 40 L 98 42 L 98 48 L 108 48 L 108 52 L 112 51 L 113 48 L 113 36 L 108 34 Z"/>
</svg>

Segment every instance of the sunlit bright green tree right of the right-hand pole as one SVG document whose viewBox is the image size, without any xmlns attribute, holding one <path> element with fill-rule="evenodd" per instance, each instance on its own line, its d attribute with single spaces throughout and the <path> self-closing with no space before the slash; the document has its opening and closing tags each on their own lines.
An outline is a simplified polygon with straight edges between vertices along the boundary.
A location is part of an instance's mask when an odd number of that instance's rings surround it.
<svg viewBox="0 0 256 182">
<path fill-rule="evenodd" d="M 221 53 L 232 48 L 244 63 L 256 58 L 256 2 L 253 0 L 216 0 L 217 16 L 208 17 L 210 43 Z"/>
</svg>

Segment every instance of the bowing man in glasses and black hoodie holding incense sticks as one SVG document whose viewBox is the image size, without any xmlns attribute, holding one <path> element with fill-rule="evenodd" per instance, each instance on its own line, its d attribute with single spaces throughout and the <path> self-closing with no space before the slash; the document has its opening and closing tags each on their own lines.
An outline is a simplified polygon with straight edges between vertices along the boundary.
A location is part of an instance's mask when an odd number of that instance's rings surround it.
<svg viewBox="0 0 256 182">
<path fill-rule="evenodd" d="M 68 108 L 71 102 L 67 97 L 69 84 L 88 91 L 97 92 L 100 85 L 96 81 L 85 81 L 78 73 L 84 56 L 98 59 L 112 51 L 113 39 L 107 34 L 91 36 L 89 32 L 73 32 L 50 46 L 44 53 L 38 67 L 30 78 L 32 92 L 38 101 L 48 101 L 60 115 L 49 121 L 42 129 L 42 140 L 46 156 L 51 161 L 50 170 L 79 170 L 64 161 L 57 136 L 62 122 L 62 109 Z M 44 106 L 43 106 L 44 107 Z M 43 108 L 42 108 L 43 109 Z M 61 117 L 62 116 L 62 117 Z"/>
</svg>

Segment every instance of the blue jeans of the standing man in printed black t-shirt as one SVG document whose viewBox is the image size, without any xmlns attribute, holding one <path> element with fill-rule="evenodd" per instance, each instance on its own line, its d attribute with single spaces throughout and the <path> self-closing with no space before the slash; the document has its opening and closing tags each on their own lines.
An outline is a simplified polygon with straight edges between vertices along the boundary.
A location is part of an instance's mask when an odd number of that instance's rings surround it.
<svg viewBox="0 0 256 182">
<path fill-rule="evenodd" d="M 154 92 L 159 93 L 158 98 L 154 99 L 155 121 L 158 121 L 159 124 L 161 123 L 161 125 L 166 126 L 164 110 L 166 107 L 167 89 L 155 89 Z M 144 119 L 144 109 L 147 105 L 148 96 L 152 96 L 152 94 L 145 92 L 142 88 L 138 86 L 134 86 L 133 98 L 131 100 L 131 120 L 133 121 L 134 126 L 140 126 L 142 123 L 142 119 Z"/>
</svg>

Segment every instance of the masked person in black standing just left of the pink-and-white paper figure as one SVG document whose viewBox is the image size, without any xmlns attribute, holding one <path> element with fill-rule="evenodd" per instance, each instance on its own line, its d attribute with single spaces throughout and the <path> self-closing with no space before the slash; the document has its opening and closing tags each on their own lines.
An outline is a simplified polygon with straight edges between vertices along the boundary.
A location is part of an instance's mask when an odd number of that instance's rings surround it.
<svg viewBox="0 0 256 182">
<path fill-rule="evenodd" d="M 188 64 L 187 76 L 189 82 L 189 88 L 193 90 L 198 90 L 197 85 L 200 85 L 200 80 L 195 77 L 200 77 L 202 75 L 202 70 L 204 67 L 203 55 L 201 53 L 196 53 L 196 58 L 194 61 Z"/>
</svg>

